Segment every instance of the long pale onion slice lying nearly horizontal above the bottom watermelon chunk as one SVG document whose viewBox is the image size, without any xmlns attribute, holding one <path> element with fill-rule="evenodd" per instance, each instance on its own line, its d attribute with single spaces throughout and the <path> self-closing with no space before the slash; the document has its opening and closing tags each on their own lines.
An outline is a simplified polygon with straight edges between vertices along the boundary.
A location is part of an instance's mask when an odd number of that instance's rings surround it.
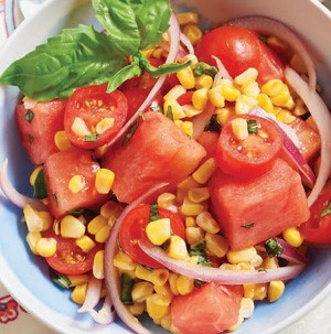
<svg viewBox="0 0 331 334">
<path fill-rule="evenodd" d="M 169 258 L 162 248 L 157 246 L 150 247 L 142 241 L 139 241 L 139 246 L 148 256 L 163 265 L 169 270 L 204 282 L 217 282 L 221 284 L 232 285 L 245 283 L 266 283 L 274 280 L 293 279 L 305 269 L 303 265 L 293 265 L 264 271 L 224 270 Z"/>
</svg>

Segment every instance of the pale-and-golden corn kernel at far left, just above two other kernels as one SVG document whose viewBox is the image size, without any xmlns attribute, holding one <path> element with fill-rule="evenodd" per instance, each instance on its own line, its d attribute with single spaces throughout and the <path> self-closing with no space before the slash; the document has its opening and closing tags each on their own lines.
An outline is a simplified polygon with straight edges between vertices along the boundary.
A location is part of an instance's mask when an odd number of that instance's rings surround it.
<svg viewBox="0 0 331 334">
<path fill-rule="evenodd" d="M 46 211 L 36 211 L 31 205 L 25 205 L 23 208 L 24 219 L 29 231 L 43 231 L 51 228 L 53 217 Z"/>
</svg>

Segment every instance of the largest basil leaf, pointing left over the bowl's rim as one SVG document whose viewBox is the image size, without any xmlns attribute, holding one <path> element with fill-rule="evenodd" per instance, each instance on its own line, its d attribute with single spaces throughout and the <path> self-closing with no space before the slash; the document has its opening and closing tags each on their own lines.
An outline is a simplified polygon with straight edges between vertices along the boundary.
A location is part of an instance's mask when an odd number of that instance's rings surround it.
<svg viewBox="0 0 331 334">
<path fill-rule="evenodd" d="M 0 85 L 14 85 L 38 101 L 67 98 L 87 84 L 102 84 L 127 64 L 106 34 L 93 26 L 64 29 L 0 76 Z"/>
</svg>

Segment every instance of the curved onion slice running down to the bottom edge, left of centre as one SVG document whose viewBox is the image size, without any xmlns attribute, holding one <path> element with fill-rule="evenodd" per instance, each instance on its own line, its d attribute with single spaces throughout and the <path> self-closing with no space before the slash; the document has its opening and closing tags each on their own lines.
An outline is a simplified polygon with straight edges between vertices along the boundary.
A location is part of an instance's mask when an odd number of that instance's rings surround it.
<svg viewBox="0 0 331 334">
<path fill-rule="evenodd" d="M 116 250 L 118 248 L 117 237 L 120 229 L 120 225 L 125 218 L 125 216 L 136 206 L 147 201 L 151 195 L 159 192 L 161 188 L 166 187 L 168 183 L 161 183 L 152 188 L 150 188 L 142 196 L 135 200 L 131 204 L 129 204 L 117 218 L 116 223 L 111 228 L 110 236 L 106 243 L 105 247 L 105 282 L 107 292 L 110 297 L 113 305 L 117 315 L 121 319 L 121 321 L 129 326 L 135 333 L 138 334 L 149 334 L 150 332 L 145 328 L 141 323 L 138 321 L 136 316 L 134 316 L 128 309 L 120 301 L 120 280 L 118 270 L 113 266 L 113 260 L 116 255 Z"/>
</svg>

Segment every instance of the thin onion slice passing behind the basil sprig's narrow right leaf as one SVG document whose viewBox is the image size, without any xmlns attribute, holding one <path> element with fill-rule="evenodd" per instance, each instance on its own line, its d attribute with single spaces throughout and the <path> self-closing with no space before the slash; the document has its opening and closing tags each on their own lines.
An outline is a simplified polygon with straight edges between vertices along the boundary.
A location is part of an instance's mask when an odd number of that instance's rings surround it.
<svg viewBox="0 0 331 334">
<path fill-rule="evenodd" d="M 173 63 L 175 61 L 175 57 L 179 53 L 180 47 L 180 26 L 178 23 L 178 20 L 175 18 L 175 14 L 172 13 L 170 18 L 170 29 L 169 29 L 169 35 L 170 35 L 170 50 L 168 57 L 166 60 L 166 64 Z M 141 111 L 145 111 L 148 106 L 152 103 L 154 96 L 160 91 L 161 87 L 163 86 L 166 82 L 167 76 L 159 77 L 156 82 L 154 86 L 150 90 L 149 95 L 142 103 L 142 105 L 138 108 L 138 110 L 135 112 L 135 115 L 126 122 L 126 125 L 120 129 L 120 131 L 108 142 L 108 147 L 111 147 L 115 142 L 117 142 L 122 136 L 130 129 L 130 127 L 135 123 L 136 119 L 138 118 L 139 114 Z"/>
</svg>

